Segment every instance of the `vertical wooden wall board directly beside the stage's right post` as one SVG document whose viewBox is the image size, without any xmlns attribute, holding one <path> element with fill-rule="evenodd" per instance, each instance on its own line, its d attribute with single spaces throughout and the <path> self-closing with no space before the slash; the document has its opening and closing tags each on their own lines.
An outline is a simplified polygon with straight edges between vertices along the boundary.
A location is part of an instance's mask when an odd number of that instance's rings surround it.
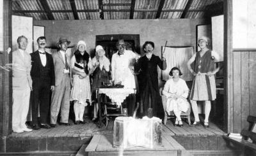
<svg viewBox="0 0 256 156">
<path fill-rule="evenodd" d="M 241 52 L 233 53 L 233 132 L 241 132 Z"/>
</svg>

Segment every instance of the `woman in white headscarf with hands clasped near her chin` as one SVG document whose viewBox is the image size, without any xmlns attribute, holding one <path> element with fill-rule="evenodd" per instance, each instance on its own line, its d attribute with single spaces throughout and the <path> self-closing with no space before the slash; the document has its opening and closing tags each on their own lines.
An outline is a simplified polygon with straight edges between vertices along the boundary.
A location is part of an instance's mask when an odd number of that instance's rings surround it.
<svg viewBox="0 0 256 156">
<path fill-rule="evenodd" d="M 103 83 L 108 83 L 111 80 L 110 62 L 106 57 L 106 52 L 102 46 L 96 46 L 95 57 L 92 59 L 93 74 L 92 74 L 92 99 L 95 101 L 93 111 L 93 121 L 97 118 L 97 112 L 99 110 L 98 102 L 96 98 L 96 90 L 99 89 Z"/>
</svg>

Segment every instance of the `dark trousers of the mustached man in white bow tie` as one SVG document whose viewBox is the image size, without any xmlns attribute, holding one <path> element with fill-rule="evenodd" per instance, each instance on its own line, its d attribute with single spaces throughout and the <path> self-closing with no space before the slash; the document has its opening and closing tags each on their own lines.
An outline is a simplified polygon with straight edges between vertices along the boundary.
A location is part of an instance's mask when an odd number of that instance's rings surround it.
<svg viewBox="0 0 256 156">
<path fill-rule="evenodd" d="M 33 80 L 32 96 L 32 123 L 38 124 L 38 106 L 40 106 L 40 123 L 47 124 L 51 99 L 51 82 L 40 78 Z"/>
</svg>

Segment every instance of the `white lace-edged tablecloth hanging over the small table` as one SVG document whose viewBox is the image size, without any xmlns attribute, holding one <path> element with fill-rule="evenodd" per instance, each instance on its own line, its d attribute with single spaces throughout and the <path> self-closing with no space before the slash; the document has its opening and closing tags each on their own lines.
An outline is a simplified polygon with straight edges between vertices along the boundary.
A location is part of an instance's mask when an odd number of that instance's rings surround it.
<svg viewBox="0 0 256 156">
<path fill-rule="evenodd" d="M 99 89 L 99 94 L 106 94 L 112 102 L 116 103 L 118 106 L 123 103 L 129 94 L 135 94 L 135 89 Z"/>
</svg>

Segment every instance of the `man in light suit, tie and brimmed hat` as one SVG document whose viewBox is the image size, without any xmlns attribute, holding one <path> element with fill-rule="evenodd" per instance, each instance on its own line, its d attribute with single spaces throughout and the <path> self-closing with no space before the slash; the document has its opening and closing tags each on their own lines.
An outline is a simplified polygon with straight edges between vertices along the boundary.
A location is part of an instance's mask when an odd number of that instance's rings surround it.
<svg viewBox="0 0 256 156">
<path fill-rule="evenodd" d="M 61 110 L 61 125 L 70 125 L 68 115 L 70 108 L 70 58 L 67 57 L 67 48 L 70 44 L 66 38 L 60 38 L 58 52 L 52 53 L 55 72 L 55 89 L 51 99 L 51 127 L 56 127 L 58 114 Z"/>
</svg>

